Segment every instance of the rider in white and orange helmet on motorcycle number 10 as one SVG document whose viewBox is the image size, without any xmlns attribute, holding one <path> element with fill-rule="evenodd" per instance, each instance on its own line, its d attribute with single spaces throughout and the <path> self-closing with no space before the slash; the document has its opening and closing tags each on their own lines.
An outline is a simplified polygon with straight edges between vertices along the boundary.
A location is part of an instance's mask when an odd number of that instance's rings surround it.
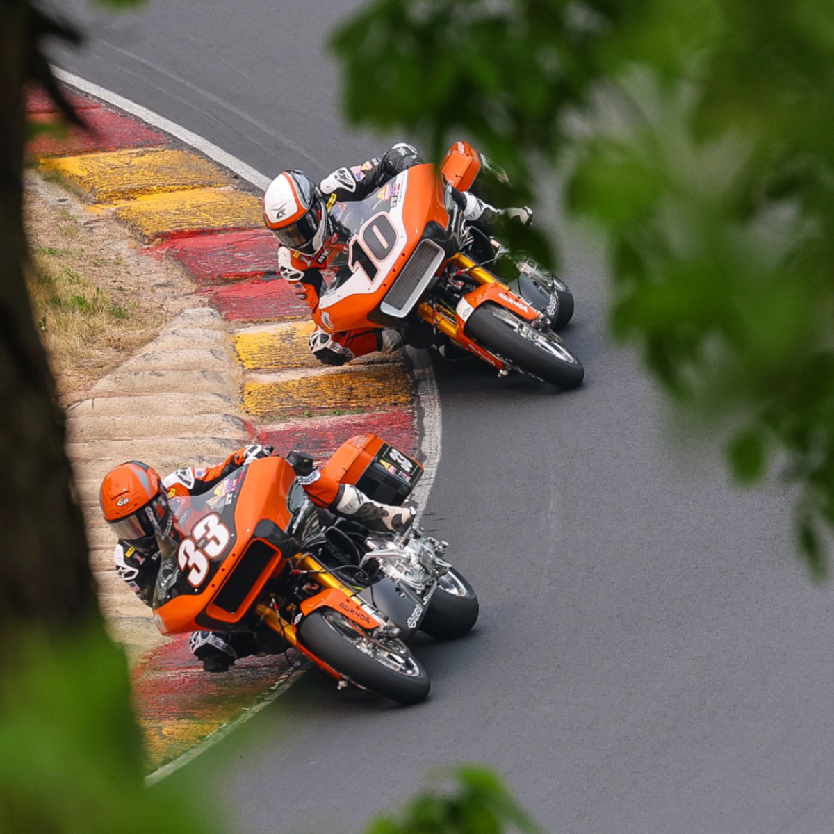
<svg viewBox="0 0 834 834">
<path fill-rule="evenodd" d="M 318 185 L 299 170 L 283 171 L 269 184 L 264 193 L 264 222 L 282 244 L 278 252 L 280 274 L 312 314 L 316 314 L 321 294 L 336 277 L 334 260 L 348 243 L 344 229 L 329 216 L 331 209 L 336 203 L 363 200 L 398 173 L 423 162 L 416 148 L 398 143 L 382 157 L 352 168 L 338 168 Z M 530 209 L 500 211 L 474 194 L 454 188 L 451 193 L 470 222 L 488 225 L 499 216 L 524 223 L 530 220 Z M 396 330 L 381 328 L 331 334 L 317 326 L 309 339 L 314 356 L 330 365 L 344 364 L 374 351 L 392 353 L 402 344 Z"/>
</svg>

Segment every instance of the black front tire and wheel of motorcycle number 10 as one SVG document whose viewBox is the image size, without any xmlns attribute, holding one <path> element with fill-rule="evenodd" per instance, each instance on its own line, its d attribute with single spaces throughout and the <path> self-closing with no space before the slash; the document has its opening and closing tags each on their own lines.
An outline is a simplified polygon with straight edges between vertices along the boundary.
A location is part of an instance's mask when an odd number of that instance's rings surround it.
<svg viewBox="0 0 834 834">
<path fill-rule="evenodd" d="M 561 389 L 576 388 L 585 379 L 579 359 L 552 330 L 536 330 L 504 307 L 491 303 L 476 307 L 466 322 L 465 333 L 526 374 Z"/>
</svg>

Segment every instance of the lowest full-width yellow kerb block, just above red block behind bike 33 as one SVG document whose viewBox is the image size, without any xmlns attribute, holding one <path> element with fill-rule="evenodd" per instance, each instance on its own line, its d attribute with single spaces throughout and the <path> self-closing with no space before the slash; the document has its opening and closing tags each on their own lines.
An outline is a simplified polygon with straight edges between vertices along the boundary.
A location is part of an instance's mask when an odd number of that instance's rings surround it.
<svg viewBox="0 0 834 834">
<path fill-rule="evenodd" d="M 248 382 L 244 407 L 259 420 L 351 411 L 384 411 L 409 404 L 411 384 L 399 364 L 379 364 L 279 382 Z"/>
</svg>

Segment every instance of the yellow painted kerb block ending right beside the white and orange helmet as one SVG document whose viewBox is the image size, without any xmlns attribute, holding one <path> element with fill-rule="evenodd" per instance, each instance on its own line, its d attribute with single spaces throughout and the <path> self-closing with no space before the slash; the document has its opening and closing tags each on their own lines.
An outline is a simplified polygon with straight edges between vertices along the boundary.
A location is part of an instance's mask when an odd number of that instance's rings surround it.
<svg viewBox="0 0 834 834">
<path fill-rule="evenodd" d="M 146 194 L 118 206 L 116 216 L 148 241 L 201 229 L 259 229 L 264 222 L 259 198 L 227 188 Z"/>
</svg>

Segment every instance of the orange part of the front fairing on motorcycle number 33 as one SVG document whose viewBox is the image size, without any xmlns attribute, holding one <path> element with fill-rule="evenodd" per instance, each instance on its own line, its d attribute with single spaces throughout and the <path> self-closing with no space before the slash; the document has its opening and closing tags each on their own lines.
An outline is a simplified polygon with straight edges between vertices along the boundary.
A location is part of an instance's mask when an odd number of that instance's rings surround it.
<svg viewBox="0 0 834 834">
<path fill-rule="evenodd" d="M 252 605 L 271 575 L 279 569 L 284 556 L 280 550 L 259 539 L 253 539 L 255 527 L 262 520 L 274 522 L 281 530 L 287 530 L 292 517 L 287 509 L 286 495 L 293 484 L 295 473 L 282 458 L 270 457 L 255 460 L 247 469 L 246 479 L 241 486 L 237 504 L 234 507 L 234 544 L 225 555 L 219 569 L 210 580 L 193 593 L 174 596 L 154 611 L 153 619 L 163 634 L 178 634 L 203 628 L 197 618 L 203 612 L 214 620 L 231 624 L 239 622 Z M 197 528 L 203 515 L 194 515 L 183 533 L 190 535 Z M 254 577 L 250 590 L 233 611 L 215 605 L 229 575 L 239 564 L 250 545 L 259 545 L 263 569 Z M 270 555 L 269 550 L 274 552 Z M 264 558 L 264 555 L 268 558 Z"/>
</svg>

